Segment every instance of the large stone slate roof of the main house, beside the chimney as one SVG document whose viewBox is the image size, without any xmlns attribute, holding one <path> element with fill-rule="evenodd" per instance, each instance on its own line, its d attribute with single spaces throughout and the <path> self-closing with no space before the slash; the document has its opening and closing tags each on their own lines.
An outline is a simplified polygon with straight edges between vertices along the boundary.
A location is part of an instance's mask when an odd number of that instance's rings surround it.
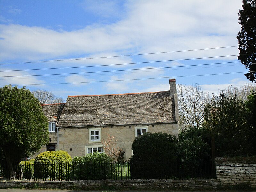
<svg viewBox="0 0 256 192">
<path fill-rule="evenodd" d="M 68 96 L 58 127 L 175 122 L 170 91 Z"/>
</svg>

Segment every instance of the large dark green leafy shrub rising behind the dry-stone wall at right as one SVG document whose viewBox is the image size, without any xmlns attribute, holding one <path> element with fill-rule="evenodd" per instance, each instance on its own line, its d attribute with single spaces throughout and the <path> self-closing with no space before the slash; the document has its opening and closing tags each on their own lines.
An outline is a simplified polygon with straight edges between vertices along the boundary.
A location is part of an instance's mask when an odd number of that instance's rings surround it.
<svg viewBox="0 0 256 192">
<path fill-rule="evenodd" d="M 221 91 L 213 96 L 204 108 L 203 126 L 215 139 L 216 157 L 253 155 L 256 131 L 248 122 L 248 117 L 255 119 L 252 114 L 236 94 L 227 95 Z"/>
</svg>

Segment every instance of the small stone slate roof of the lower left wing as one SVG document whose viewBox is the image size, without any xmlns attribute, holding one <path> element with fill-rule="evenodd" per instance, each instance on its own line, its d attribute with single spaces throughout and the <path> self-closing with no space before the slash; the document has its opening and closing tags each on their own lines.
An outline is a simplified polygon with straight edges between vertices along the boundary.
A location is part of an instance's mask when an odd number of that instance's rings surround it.
<svg viewBox="0 0 256 192">
<path fill-rule="evenodd" d="M 41 105 L 48 122 L 58 122 L 65 103 Z"/>
</svg>

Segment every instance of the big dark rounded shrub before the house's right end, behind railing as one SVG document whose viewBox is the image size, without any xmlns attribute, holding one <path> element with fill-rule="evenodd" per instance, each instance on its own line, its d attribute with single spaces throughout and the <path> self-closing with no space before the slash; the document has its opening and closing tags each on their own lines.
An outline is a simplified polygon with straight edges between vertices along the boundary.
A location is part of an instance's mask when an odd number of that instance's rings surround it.
<svg viewBox="0 0 256 192">
<path fill-rule="evenodd" d="M 134 139 L 130 169 L 132 178 L 156 179 L 175 175 L 177 143 L 174 135 L 144 133 Z"/>
</svg>

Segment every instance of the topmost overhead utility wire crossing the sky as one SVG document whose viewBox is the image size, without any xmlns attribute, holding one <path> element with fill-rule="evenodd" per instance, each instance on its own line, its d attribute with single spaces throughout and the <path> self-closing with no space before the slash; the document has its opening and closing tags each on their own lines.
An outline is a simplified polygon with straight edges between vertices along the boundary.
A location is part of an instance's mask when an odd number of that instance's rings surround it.
<svg viewBox="0 0 256 192">
<path fill-rule="evenodd" d="M 102 58 L 113 58 L 113 57 L 127 57 L 127 56 L 152 55 L 152 54 L 163 54 L 163 53 L 174 53 L 174 52 L 200 51 L 200 50 L 209 50 L 209 49 L 222 49 L 222 48 L 230 48 L 230 47 L 238 47 L 238 46 L 213 47 L 213 48 L 191 49 L 191 50 L 169 51 L 169 52 L 141 53 L 141 54 L 131 54 L 131 55 L 116 55 L 116 56 L 106 56 L 106 57 L 89 57 L 89 58 L 78 58 L 78 59 L 61 59 L 61 60 L 47 60 L 47 61 L 30 61 L 30 62 L 18 62 L 18 63 L 0 63 L 0 65 L 25 64 L 25 63 L 43 63 L 43 62 L 71 61 L 71 60 L 86 60 L 86 59 L 102 59 Z"/>
</svg>

